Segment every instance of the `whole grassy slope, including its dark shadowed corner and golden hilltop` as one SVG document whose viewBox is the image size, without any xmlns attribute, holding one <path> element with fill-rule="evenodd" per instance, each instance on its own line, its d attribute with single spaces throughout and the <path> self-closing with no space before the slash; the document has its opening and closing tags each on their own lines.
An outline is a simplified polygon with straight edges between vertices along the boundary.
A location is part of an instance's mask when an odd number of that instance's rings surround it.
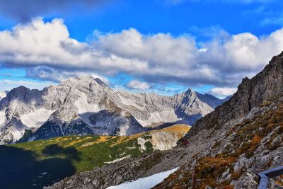
<svg viewBox="0 0 283 189">
<path fill-rule="evenodd" d="M 186 125 L 173 125 L 152 132 L 177 132 L 182 137 L 188 130 Z M 146 150 L 141 151 L 139 137 L 146 139 L 148 134 L 67 136 L 0 146 L 0 154 L 3 154 L 0 172 L 6 171 L 0 174 L 0 183 L 11 181 L 14 184 L 2 185 L 4 188 L 42 188 L 76 171 L 89 171 L 115 159 L 154 151 L 150 142 L 146 142 Z"/>
</svg>

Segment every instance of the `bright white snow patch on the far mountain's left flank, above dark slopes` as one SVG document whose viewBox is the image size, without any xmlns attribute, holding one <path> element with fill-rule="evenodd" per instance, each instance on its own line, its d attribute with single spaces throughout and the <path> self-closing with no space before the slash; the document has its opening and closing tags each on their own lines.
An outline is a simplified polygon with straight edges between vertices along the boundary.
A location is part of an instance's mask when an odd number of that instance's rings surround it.
<svg viewBox="0 0 283 189">
<path fill-rule="evenodd" d="M 31 113 L 21 115 L 21 121 L 28 128 L 38 128 L 48 120 L 52 113 L 54 113 L 54 110 L 38 108 Z"/>
</svg>

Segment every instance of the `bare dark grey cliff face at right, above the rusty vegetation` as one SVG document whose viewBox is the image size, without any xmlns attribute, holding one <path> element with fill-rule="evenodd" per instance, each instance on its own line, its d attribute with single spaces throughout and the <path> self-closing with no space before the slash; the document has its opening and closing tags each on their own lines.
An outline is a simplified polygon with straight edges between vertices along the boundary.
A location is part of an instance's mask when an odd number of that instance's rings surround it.
<svg viewBox="0 0 283 189">
<path fill-rule="evenodd" d="M 238 91 L 229 101 L 217 107 L 212 113 L 197 120 L 186 138 L 201 130 L 219 130 L 229 122 L 238 122 L 248 115 L 252 108 L 258 107 L 268 98 L 283 91 L 283 52 L 272 58 L 269 64 L 253 79 L 245 78 Z"/>
</svg>

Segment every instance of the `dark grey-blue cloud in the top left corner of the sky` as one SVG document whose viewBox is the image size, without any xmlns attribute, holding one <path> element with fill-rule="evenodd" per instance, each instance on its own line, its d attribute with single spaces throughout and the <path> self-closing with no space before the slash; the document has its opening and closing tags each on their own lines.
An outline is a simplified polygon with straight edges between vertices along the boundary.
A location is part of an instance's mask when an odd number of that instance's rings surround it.
<svg viewBox="0 0 283 189">
<path fill-rule="evenodd" d="M 42 13 L 68 13 L 76 6 L 76 10 L 92 9 L 108 3 L 110 0 L 0 0 L 0 13 L 18 21 L 30 21 L 34 16 L 43 16 Z"/>
</svg>

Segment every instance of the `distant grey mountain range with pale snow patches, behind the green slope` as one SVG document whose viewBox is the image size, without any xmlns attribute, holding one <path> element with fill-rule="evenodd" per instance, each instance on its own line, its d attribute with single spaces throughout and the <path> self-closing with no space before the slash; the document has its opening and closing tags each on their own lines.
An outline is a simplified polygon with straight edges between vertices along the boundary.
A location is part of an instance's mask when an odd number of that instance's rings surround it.
<svg viewBox="0 0 283 189">
<path fill-rule="evenodd" d="M 42 91 L 20 86 L 0 101 L 0 144 L 191 125 L 222 102 L 190 89 L 175 96 L 115 91 L 92 77 L 70 78 Z"/>
</svg>

